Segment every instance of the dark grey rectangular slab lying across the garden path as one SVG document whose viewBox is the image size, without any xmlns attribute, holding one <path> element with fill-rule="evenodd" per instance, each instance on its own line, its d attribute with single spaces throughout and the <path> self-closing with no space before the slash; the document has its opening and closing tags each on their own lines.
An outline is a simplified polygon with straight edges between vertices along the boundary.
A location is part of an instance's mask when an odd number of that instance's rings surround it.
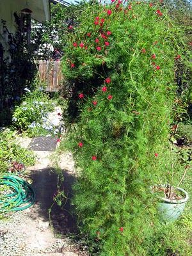
<svg viewBox="0 0 192 256">
<path fill-rule="evenodd" d="M 54 151 L 56 150 L 57 138 L 36 137 L 29 143 L 28 149 L 34 151 Z"/>
</svg>

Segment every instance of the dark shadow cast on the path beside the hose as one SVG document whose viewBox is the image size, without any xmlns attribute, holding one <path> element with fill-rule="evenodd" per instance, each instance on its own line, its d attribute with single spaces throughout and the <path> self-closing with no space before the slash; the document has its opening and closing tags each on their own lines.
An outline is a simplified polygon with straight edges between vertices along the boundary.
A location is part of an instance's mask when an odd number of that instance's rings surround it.
<svg viewBox="0 0 192 256">
<path fill-rule="evenodd" d="M 33 189 L 36 193 L 36 204 L 31 207 L 30 216 L 33 219 L 42 218 L 49 221 L 49 209 L 51 208 L 51 223 L 56 234 L 76 234 L 77 223 L 71 205 L 72 184 L 76 181 L 74 175 L 67 170 L 62 170 L 64 181 L 60 185 L 60 191 L 64 191 L 67 199 L 64 198 L 61 207 L 53 200 L 58 191 L 58 174 L 54 168 L 44 168 L 31 172 Z"/>
</svg>

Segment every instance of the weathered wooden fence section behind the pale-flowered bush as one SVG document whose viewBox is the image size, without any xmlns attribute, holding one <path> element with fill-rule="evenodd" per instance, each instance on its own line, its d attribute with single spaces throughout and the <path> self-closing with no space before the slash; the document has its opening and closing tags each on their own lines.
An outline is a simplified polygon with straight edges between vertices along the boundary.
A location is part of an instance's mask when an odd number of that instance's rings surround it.
<svg viewBox="0 0 192 256">
<path fill-rule="evenodd" d="M 40 79 L 47 84 L 46 91 L 58 92 L 63 80 L 61 61 L 40 60 L 38 65 Z"/>
</svg>

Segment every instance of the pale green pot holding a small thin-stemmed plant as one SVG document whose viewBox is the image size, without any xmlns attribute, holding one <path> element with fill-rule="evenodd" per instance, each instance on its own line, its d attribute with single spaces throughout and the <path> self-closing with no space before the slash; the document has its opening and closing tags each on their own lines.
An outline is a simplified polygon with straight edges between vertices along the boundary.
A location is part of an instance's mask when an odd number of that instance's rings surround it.
<svg viewBox="0 0 192 256">
<path fill-rule="evenodd" d="M 178 150 L 172 146 L 170 149 L 170 168 L 172 172 L 168 168 L 166 182 L 159 180 L 159 184 L 152 187 L 153 193 L 156 193 L 159 199 L 157 210 L 160 219 L 166 223 L 177 220 L 184 211 L 186 202 L 189 200 L 188 192 L 180 188 L 180 184 L 186 178 L 188 170 L 190 170 L 190 156 L 188 151 L 184 149 Z M 182 173 L 181 178 L 180 173 Z M 172 184 L 177 185 L 173 186 Z"/>
</svg>

